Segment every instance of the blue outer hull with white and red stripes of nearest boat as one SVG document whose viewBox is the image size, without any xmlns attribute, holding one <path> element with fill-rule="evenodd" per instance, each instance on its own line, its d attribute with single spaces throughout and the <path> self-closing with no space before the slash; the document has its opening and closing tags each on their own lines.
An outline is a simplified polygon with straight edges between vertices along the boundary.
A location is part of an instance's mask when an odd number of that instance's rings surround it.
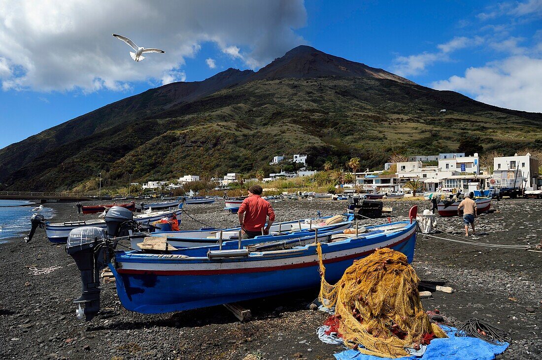
<svg viewBox="0 0 542 360">
<path fill-rule="evenodd" d="M 377 247 L 400 251 L 411 262 L 415 241 L 416 225 L 413 224 L 392 237 L 387 235 L 375 239 L 347 240 L 344 244 L 343 241 L 341 244 L 322 244 L 326 280 L 337 282 L 354 260 L 368 256 Z M 117 278 L 117 292 L 126 309 L 140 313 L 164 313 L 319 286 L 315 246 L 307 245 L 299 251 L 295 256 L 278 255 L 257 260 L 250 257 L 208 261 L 198 258 L 192 263 L 186 259 L 178 261 L 175 256 L 162 256 L 159 261 L 149 258 L 147 261 L 141 254 L 120 253 L 117 255 L 119 270 L 111 264 L 109 266 Z M 133 265 L 135 263 L 138 263 L 137 266 Z"/>
</svg>

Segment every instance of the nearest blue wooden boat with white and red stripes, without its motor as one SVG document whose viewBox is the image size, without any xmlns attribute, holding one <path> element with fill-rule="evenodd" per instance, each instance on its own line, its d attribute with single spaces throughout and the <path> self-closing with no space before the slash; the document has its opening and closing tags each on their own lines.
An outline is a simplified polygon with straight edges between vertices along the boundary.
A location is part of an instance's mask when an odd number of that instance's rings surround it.
<svg viewBox="0 0 542 360">
<path fill-rule="evenodd" d="M 376 248 L 414 257 L 416 222 L 392 222 L 366 233 L 330 232 L 292 243 L 264 243 L 236 250 L 186 248 L 180 253 L 115 253 L 109 264 L 119 299 L 126 309 L 164 313 L 272 296 L 320 284 L 317 244 L 321 244 L 326 279 L 336 282 L 356 259 Z M 235 242 L 235 241 L 234 241 Z M 272 247 L 275 245 L 275 247 Z"/>
</svg>

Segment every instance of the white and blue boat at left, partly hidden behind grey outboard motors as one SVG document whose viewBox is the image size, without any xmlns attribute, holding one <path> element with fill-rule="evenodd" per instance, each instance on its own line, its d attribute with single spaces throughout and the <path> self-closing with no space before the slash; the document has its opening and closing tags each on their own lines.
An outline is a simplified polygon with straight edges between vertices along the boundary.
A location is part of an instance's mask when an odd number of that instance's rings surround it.
<svg viewBox="0 0 542 360">
<path fill-rule="evenodd" d="M 163 218 L 175 218 L 180 222 L 180 214 L 182 213 L 182 207 L 177 208 L 174 211 L 163 210 L 156 211 L 151 213 L 138 213 L 134 215 L 133 220 L 136 222 L 141 222 L 141 224 L 151 224 L 154 221 L 158 221 Z M 87 227 L 94 226 L 100 228 L 106 228 L 105 220 L 95 219 L 95 220 L 83 220 L 83 221 L 64 221 L 51 223 L 49 221 L 45 222 L 45 231 L 47 233 L 47 238 L 51 243 L 66 243 L 68 239 L 69 232 L 78 227 Z"/>
</svg>

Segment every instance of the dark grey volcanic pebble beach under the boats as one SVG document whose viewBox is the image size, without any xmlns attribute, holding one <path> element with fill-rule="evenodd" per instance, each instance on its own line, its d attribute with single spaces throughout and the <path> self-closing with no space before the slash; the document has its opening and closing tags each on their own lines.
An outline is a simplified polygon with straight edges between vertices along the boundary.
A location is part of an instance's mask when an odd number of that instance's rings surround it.
<svg viewBox="0 0 542 360">
<path fill-rule="evenodd" d="M 347 202 L 272 200 L 272 205 L 276 221 L 287 221 L 315 217 L 317 211 L 338 214 Z M 412 205 L 418 205 L 418 213 L 430 208 L 429 201 L 384 204 L 393 208 L 391 221 L 405 219 Z M 75 203 L 47 206 L 54 210 L 52 222 L 77 217 Z M 237 215 L 223 207 L 222 200 L 186 205 L 181 228 L 236 226 Z M 505 199 L 492 207 L 495 212 L 476 219 L 476 241 L 540 243 L 542 200 Z M 437 215 L 437 227 L 442 233 L 436 236 L 443 239 L 418 234 L 412 266 L 422 280 L 445 282 L 455 292 L 433 292 L 422 299 L 424 309 L 439 309 L 450 325 L 476 317 L 510 332 L 511 345 L 498 359 L 542 359 L 542 253 L 449 241 L 468 239 L 459 217 Z M 76 319 L 72 303 L 81 291 L 79 271 L 64 245 L 49 243 L 43 230 L 29 244 L 23 236 L 0 244 L 0 264 L 2 359 L 332 360 L 345 349 L 318 339 L 317 328 L 327 314 L 309 305 L 319 289 L 243 302 L 253 319 L 241 323 L 224 306 L 161 315 L 130 312 L 120 305 L 114 283 L 105 283 L 102 310 L 86 323 Z"/>
</svg>

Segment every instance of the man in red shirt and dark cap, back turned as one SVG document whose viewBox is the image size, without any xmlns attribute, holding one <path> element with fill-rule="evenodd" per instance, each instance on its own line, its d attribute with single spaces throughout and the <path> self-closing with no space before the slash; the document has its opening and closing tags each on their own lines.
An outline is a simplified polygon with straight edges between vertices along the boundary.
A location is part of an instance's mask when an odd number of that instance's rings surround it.
<svg viewBox="0 0 542 360">
<path fill-rule="evenodd" d="M 243 233 L 243 239 L 252 239 L 257 235 L 269 233 L 269 228 L 275 220 L 275 212 L 269 201 L 261 198 L 263 189 L 259 185 L 251 186 L 248 189 L 248 198 L 243 200 L 243 203 L 237 211 L 239 224 Z M 269 221 L 266 226 L 266 219 Z"/>
</svg>

